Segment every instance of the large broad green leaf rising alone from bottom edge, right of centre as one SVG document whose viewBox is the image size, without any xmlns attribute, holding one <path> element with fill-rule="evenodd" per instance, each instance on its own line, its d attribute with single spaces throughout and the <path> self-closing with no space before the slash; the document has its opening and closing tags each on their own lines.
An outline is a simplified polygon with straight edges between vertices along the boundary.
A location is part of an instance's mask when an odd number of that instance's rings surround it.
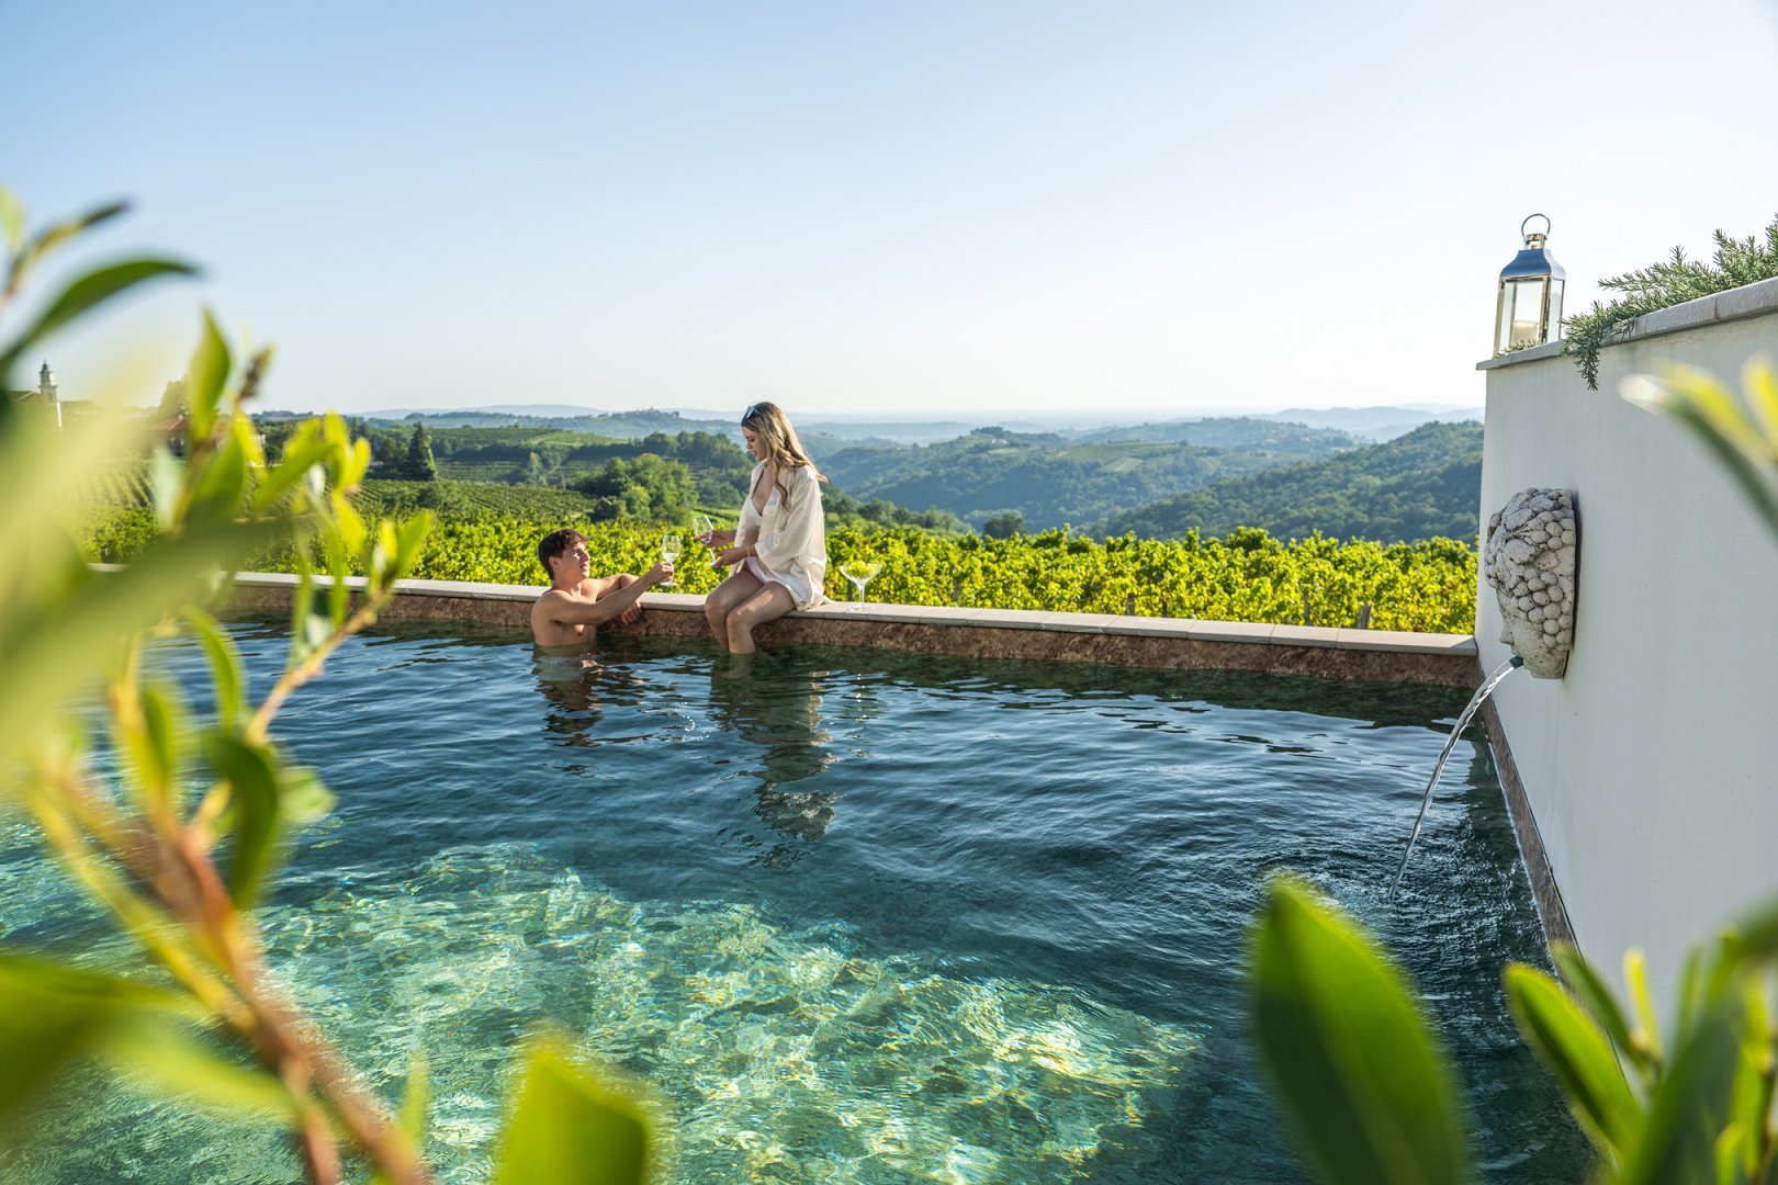
<svg viewBox="0 0 1778 1185">
<path fill-rule="evenodd" d="M 1406 981 L 1358 927 L 1277 881 L 1253 933 L 1261 1055 L 1323 1176 L 1469 1176 L 1451 1064 Z"/>
</svg>

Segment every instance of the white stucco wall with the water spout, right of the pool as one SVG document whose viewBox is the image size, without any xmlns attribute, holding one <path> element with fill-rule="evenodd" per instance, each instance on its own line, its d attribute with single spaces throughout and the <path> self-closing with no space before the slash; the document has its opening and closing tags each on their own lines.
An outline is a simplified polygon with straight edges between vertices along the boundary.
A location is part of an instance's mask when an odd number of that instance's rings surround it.
<svg viewBox="0 0 1778 1185">
<path fill-rule="evenodd" d="M 1778 897 L 1778 540 L 1618 382 L 1677 361 L 1741 391 L 1748 357 L 1778 362 L 1778 281 L 1645 318 L 1598 391 L 1550 354 L 1483 364 L 1481 519 L 1526 487 L 1575 490 L 1574 652 L 1497 707 L 1581 950 L 1622 986 L 1641 947 L 1666 1013 L 1687 947 Z M 1486 581 L 1476 634 L 1483 670 L 1510 657 Z"/>
</svg>

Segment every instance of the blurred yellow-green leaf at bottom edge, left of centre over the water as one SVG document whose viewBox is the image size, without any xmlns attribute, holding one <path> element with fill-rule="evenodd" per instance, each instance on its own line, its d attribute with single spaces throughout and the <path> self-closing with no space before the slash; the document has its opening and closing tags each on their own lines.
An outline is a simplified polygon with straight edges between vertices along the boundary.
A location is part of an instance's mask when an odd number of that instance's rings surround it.
<svg viewBox="0 0 1778 1185">
<path fill-rule="evenodd" d="M 494 1185 L 635 1185 L 649 1130 L 637 1107 L 571 1064 L 551 1039 L 533 1041 L 501 1139 Z"/>
</svg>

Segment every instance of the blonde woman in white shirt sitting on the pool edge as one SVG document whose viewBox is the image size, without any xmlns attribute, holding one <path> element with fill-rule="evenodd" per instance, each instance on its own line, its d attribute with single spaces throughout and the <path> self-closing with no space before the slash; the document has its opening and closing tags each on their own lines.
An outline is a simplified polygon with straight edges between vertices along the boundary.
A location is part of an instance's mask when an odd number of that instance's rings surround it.
<svg viewBox="0 0 1778 1185">
<path fill-rule="evenodd" d="M 754 403 L 741 414 L 741 437 L 759 464 L 747 483 L 741 521 L 713 531 L 722 547 L 717 567 L 729 577 L 704 599 L 709 632 L 731 654 L 754 652 L 754 629 L 791 609 L 821 604 L 827 577 L 827 526 L 814 462 L 777 403 Z"/>
</svg>

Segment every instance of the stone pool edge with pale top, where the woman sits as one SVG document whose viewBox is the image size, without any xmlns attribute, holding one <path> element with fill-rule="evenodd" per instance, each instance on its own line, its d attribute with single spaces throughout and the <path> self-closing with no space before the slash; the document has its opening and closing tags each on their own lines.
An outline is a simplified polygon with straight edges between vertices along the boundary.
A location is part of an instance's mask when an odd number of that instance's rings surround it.
<svg viewBox="0 0 1778 1185">
<path fill-rule="evenodd" d="M 318 585 L 331 586 L 327 577 Z M 348 577 L 363 588 L 363 577 Z M 242 572 L 236 609 L 290 609 L 297 577 Z M 528 636 L 541 586 L 473 581 L 396 581 L 384 620 L 480 622 L 510 625 Z M 615 632 L 699 638 L 708 627 L 702 597 L 649 592 L 642 618 Z M 1328 629 L 1255 622 L 1200 622 L 1111 613 L 1044 613 L 917 604 L 825 604 L 763 625 L 773 643 L 882 647 L 957 657 L 1056 659 L 1154 666 L 1163 670 L 1246 670 L 1321 679 L 1419 682 L 1476 688 L 1481 679 L 1476 640 L 1469 634 L 1412 634 L 1387 629 Z"/>
</svg>

